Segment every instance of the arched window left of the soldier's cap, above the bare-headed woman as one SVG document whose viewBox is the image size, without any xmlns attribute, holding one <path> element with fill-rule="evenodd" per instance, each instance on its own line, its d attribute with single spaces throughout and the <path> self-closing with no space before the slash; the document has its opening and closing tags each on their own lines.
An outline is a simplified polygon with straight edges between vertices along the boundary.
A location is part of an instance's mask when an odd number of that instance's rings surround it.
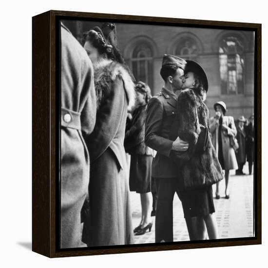
<svg viewBox="0 0 268 268">
<path fill-rule="evenodd" d="M 153 52 L 150 44 L 141 41 L 133 49 L 130 66 L 136 81 L 153 87 Z"/>
</svg>

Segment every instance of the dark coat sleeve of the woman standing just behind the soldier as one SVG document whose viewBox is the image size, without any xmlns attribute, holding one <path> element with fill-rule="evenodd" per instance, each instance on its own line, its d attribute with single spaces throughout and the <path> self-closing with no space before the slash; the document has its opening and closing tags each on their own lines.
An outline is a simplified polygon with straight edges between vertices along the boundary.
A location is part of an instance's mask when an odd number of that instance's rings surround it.
<svg viewBox="0 0 268 268">
<path fill-rule="evenodd" d="M 125 134 L 124 147 L 126 150 L 131 149 L 144 141 L 144 132 L 143 135 L 140 133 L 145 125 L 146 109 L 138 109 L 138 111 L 134 111 L 133 119 L 130 122 L 130 128 Z"/>
</svg>

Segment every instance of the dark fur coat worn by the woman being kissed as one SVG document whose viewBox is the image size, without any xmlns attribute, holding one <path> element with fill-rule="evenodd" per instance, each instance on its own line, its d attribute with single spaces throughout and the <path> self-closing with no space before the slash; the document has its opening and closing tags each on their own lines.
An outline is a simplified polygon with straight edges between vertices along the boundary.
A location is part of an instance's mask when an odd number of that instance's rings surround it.
<svg viewBox="0 0 268 268">
<path fill-rule="evenodd" d="M 209 127 L 209 110 L 196 90 L 185 89 L 177 100 L 177 115 L 173 122 L 171 138 L 179 136 L 189 143 L 186 152 L 172 151 L 186 189 L 208 186 L 223 178 L 222 169 L 209 136 L 204 153 L 196 153 L 196 143 L 200 134 L 200 125 Z"/>
</svg>

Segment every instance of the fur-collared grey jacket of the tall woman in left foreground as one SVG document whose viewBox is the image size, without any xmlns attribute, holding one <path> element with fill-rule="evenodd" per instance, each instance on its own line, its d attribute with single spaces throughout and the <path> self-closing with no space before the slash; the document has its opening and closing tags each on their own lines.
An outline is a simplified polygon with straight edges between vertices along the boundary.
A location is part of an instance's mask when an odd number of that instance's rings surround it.
<svg viewBox="0 0 268 268">
<path fill-rule="evenodd" d="M 112 60 L 102 60 L 94 66 L 97 98 L 96 125 L 86 139 L 90 160 L 94 162 L 108 147 L 118 164 L 125 168 L 124 136 L 127 109 L 134 105 L 134 83 L 127 70 Z"/>
</svg>

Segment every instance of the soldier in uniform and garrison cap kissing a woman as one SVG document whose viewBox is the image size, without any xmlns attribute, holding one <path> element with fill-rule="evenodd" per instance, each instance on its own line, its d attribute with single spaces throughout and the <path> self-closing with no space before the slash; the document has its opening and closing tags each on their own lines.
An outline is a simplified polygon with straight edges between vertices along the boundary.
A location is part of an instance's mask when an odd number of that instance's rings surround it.
<svg viewBox="0 0 268 268">
<path fill-rule="evenodd" d="M 152 176 L 156 182 L 157 206 L 155 218 L 155 242 L 173 241 L 173 197 L 179 194 L 176 167 L 169 157 L 171 151 L 187 151 L 189 144 L 179 137 L 169 139 L 176 115 L 175 92 L 181 89 L 186 61 L 172 55 L 164 55 L 160 75 L 164 80 L 161 92 L 153 96 L 147 108 L 145 125 L 146 145 L 155 150 Z"/>
</svg>

